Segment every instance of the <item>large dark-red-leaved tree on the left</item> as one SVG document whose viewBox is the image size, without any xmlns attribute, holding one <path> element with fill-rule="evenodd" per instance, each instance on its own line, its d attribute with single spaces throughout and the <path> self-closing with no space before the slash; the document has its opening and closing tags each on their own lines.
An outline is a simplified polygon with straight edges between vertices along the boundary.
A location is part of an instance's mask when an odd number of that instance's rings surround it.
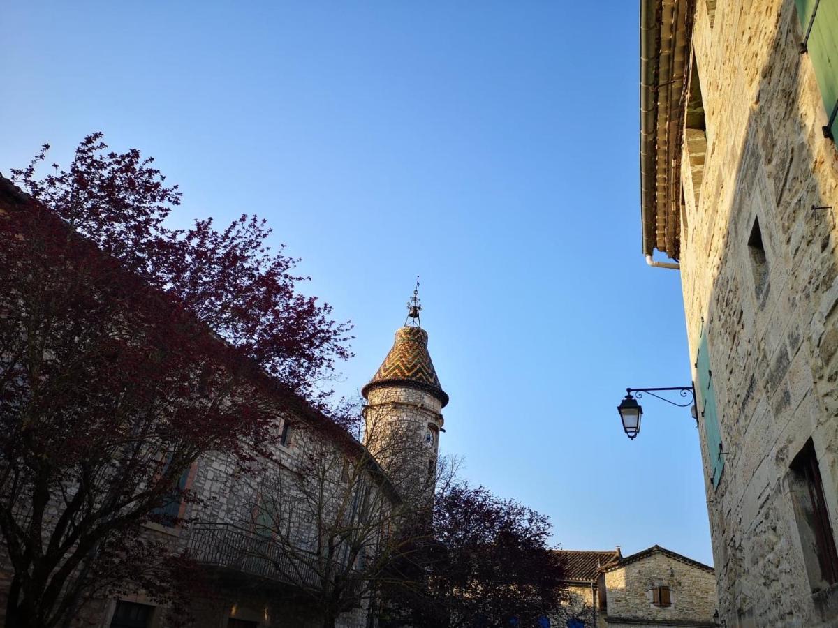
<svg viewBox="0 0 838 628">
<path fill-rule="evenodd" d="M 180 193 L 151 159 L 97 133 L 37 178 L 48 148 L 0 206 L 6 625 L 29 628 L 121 587 L 172 590 L 178 561 L 144 526 L 198 499 L 184 471 L 209 451 L 271 456 L 272 389 L 323 405 L 349 355 L 349 326 L 297 293 L 264 221 L 168 229 Z"/>
</svg>

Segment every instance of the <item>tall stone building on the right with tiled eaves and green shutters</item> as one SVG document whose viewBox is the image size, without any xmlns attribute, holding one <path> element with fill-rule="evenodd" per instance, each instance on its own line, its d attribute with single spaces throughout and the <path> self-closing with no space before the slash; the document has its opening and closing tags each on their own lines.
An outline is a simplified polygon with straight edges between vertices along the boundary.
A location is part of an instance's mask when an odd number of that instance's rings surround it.
<svg viewBox="0 0 838 628">
<path fill-rule="evenodd" d="M 838 6 L 640 23 L 643 253 L 680 269 L 721 620 L 838 625 Z"/>
</svg>

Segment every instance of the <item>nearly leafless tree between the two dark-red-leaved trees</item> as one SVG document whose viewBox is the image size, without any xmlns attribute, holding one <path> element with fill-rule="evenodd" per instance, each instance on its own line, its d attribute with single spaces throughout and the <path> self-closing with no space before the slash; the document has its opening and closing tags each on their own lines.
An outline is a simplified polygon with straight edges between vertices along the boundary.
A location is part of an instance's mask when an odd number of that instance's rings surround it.
<svg viewBox="0 0 838 628">
<path fill-rule="evenodd" d="M 430 517 L 434 486 L 447 482 L 455 466 L 443 461 L 428 474 L 423 465 L 420 481 L 410 483 L 413 491 L 401 491 L 392 478 L 415 468 L 427 449 L 418 440 L 390 438 L 374 458 L 358 440 L 359 410 L 347 404 L 339 414 L 336 422 L 348 432 L 299 422 L 292 453 L 251 475 L 250 499 L 241 508 L 247 513 L 241 527 L 252 531 L 246 553 L 264 565 L 263 574 L 299 584 L 323 628 L 334 628 L 346 610 L 377 603 L 391 562 L 418 540 L 396 530 Z M 386 428 L 366 422 L 365 441 L 379 439 Z M 381 459 L 390 461 L 386 469 Z"/>
</svg>

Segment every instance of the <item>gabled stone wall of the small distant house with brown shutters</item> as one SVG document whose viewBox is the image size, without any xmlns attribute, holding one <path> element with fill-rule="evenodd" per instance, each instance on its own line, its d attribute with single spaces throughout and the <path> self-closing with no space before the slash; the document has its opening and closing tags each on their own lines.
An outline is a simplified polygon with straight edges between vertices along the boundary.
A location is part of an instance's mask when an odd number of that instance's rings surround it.
<svg viewBox="0 0 838 628">
<path fill-rule="evenodd" d="M 652 604 L 652 589 L 658 586 L 670 588 L 670 606 Z M 608 626 L 620 625 L 620 620 L 634 620 L 635 625 L 637 620 L 712 625 L 716 611 L 716 578 L 706 569 L 685 564 L 664 553 L 652 553 L 634 563 L 606 571 L 605 595 Z"/>
</svg>

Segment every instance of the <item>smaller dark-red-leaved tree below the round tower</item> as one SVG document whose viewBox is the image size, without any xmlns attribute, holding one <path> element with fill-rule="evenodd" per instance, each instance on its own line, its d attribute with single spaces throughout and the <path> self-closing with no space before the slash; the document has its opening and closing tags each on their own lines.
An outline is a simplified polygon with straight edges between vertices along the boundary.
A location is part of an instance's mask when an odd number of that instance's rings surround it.
<svg viewBox="0 0 838 628">
<path fill-rule="evenodd" d="M 482 486 L 443 487 L 432 521 L 402 533 L 386 586 L 389 625 L 542 625 L 565 597 L 549 532 L 547 517 Z"/>
</svg>

